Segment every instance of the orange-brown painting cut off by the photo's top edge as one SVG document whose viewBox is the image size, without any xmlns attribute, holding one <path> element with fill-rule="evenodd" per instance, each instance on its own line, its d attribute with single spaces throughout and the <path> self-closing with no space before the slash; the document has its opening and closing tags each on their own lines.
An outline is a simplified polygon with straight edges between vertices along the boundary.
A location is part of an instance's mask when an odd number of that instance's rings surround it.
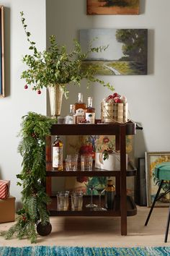
<svg viewBox="0 0 170 256">
<path fill-rule="evenodd" d="M 86 0 L 86 14 L 139 14 L 139 0 Z"/>
</svg>

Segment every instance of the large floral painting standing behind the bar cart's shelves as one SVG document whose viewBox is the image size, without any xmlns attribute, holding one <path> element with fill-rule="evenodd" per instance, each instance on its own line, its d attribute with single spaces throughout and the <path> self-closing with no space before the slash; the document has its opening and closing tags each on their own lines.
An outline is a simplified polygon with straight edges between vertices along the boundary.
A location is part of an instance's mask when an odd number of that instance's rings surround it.
<svg viewBox="0 0 170 256">
<path fill-rule="evenodd" d="M 66 136 L 66 154 L 73 153 L 90 153 L 94 156 L 95 152 L 105 149 L 115 149 L 115 136 L 114 135 L 79 135 L 79 136 Z M 134 163 L 134 137 L 133 135 L 126 136 L 126 152 L 128 153 L 129 161 Z M 132 179 L 131 179 L 132 178 Z M 115 184 L 115 177 L 112 177 Z M 87 195 L 90 195 L 89 189 L 86 189 L 84 182 L 90 184 L 104 184 L 106 177 L 66 177 L 65 189 L 69 191 L 82 190 Z M 97 190 L 94 190 L 94 195 L 97 195 Z M 134 195 L 134 177 L 127 179 L 127 194 Z"/>
</svg>

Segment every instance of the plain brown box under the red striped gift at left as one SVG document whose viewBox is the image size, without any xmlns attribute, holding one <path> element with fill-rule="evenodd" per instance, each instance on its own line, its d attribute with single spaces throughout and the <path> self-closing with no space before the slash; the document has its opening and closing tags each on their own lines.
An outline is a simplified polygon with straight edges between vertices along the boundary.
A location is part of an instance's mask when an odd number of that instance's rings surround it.
<svg viewBox="0 0 170 256">
<path fill-rule="evenodd" d="M 0 223 L 15 221 L 15 197 L 0 199 Z"/>
</svg>

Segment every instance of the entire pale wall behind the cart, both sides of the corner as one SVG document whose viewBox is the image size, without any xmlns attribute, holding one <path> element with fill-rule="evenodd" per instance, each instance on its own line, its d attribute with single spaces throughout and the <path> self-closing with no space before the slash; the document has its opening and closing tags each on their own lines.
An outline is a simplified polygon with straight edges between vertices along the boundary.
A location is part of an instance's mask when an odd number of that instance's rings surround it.
<svg viewBox="0 0 170 256">
<path fill-rule="evenodd" d="M 45 48 L 47 38 L 57 35 L 58 43 L 71 48 L 73 38 L 81 28 L 148 28 L 148 72 L 146 76 L 105 76 L 106 82 L 114 82 L 115 90 L 128 98 L 131 118 L 143 125 L 135 142 L 136 156 L 148 151 L 170 151 L 169 147 L 169 45 L 170 1 L 140 1 L 140 15 L 86 15 L 86 0 L 1 0 L 5 7 L 5 87 L 6 98 L 0 98 L 0 179 L 11 180 L 11 193 L 19 201 L 21 188 L 16 186 L 16 174 L 21 170 L 22 158 L 17 153 L 21 118 L 28 111 L 46 113 L 45 91 L 37 95 L 24 90 L 20 74 L 24 69 L 22 55 L 28 53 L 28 44 L 20 22 L 23 11 L 38 48 Z M 46 17 L 47 16 L 47 17 Z M 45 20 L 46 19 L 46 20 Z M 45 24 L 46 22 L 46 24 Z M 46 27 L 45 27 L 46 25 Z M 46 31 L 47 30 L 47 31 Z M 97 117 L 100 102 L 109 94 L 106 88 L 86 84 L 81 88 L 69 87 L 68 101 L 63 102 L 63 115 L 68 113 L 70 103 L 76 101 L 81 90 L 84 100 L 94 96 Z"/>
</svg>

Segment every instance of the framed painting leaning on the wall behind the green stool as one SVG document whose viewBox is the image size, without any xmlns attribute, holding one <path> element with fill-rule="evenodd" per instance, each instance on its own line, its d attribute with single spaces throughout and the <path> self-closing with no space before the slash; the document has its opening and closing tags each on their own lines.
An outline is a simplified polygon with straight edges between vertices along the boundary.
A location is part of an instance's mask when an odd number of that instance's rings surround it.
<svg viewBox="0 0 170 256">
<path fill-rule="evenodd" d="M 154 168 L 158 163 L 170 162 L 170 152 L 146 152 L 146 194 L 147 206 L 151 207 L 160 181 L 154 176 Z M 164 182 L 161 193 L 164 193 L 169 188 L 169 182 Z M 155 206 L 169 206 L 169 193 L 156 202 Z"/>
</svg>

